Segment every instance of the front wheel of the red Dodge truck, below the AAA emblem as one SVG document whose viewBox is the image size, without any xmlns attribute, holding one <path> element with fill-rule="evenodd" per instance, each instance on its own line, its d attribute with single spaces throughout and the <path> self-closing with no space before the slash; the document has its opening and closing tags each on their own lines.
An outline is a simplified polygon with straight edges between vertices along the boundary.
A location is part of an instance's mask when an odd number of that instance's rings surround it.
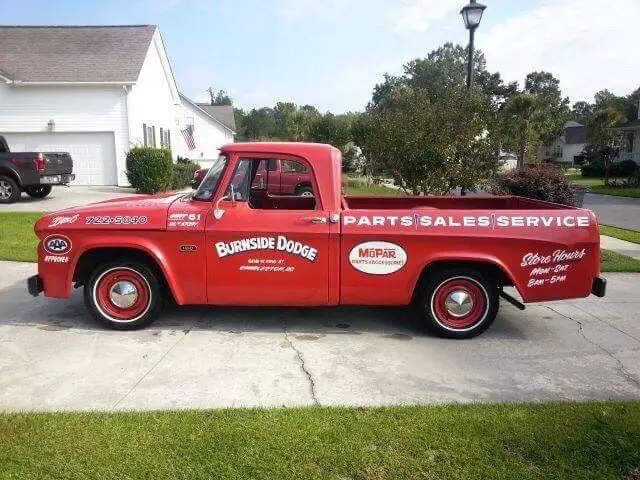
<svg viewBox="0 0 640 480">
<path fill-rule="evenodd" d="M 160 312 L 160 282 L 141 263 L 109 262 L 91 273 L 84 286 L 84 302 L 93 317 L 109 328 L 142 328 Z"/>
</svg>

